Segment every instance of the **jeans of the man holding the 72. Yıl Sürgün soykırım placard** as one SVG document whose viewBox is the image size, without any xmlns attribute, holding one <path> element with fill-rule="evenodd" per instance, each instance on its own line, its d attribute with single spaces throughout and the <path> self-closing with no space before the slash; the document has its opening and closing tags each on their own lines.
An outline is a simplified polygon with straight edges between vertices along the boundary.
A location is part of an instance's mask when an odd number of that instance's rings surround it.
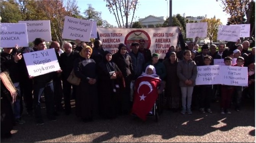
<svg viewBox="0 0 256 143">
<path fill-rule="evenodd" d="M 54 116 L 54 93 L 53 93 L 53 82 L 45 83 L 37 83 L 34 85 L 34 111 L 35 111 L 35 118 L 42 119 L 41 114 L 41 106 L 40 106 L 40 98 L 42 93 L 44 92 L 45 96 L 45 106 L 46 106 L 46 113 L 48 118 Z"/>
</svg>

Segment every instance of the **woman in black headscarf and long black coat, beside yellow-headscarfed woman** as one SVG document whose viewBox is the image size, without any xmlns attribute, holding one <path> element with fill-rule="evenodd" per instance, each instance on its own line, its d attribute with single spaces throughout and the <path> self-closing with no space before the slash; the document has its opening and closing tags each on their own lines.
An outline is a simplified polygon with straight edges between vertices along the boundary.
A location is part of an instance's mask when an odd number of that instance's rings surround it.
<svg viewBox="0 0 256 143">
<path fill-rule="evenodd" d="M 122 76 L 119 76 L 122 72 L 111 59 L 112 53 L 105 51 L 104 59 L 98 65 L 99 111 L 107 119 L 117 117 L 120 87 L 124 84 Z"/>
</svg>

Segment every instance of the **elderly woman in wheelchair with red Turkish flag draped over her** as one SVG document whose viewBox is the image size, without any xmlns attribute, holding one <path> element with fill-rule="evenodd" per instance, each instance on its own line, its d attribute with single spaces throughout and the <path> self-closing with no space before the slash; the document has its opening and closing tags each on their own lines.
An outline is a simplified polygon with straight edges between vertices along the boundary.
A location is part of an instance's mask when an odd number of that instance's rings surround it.
<svg viewBox="0 0 256 143">
<path fill-rule="evenodd" d="M 148 114 L 155 114 L 153 108 L 158 94 L 164 90 L 164 81 L 156 74 L 155 67 L 148 65 L 145 72 L 134 83 L 134 104 L 132 114 L 145 121 Z"/>
</svg>

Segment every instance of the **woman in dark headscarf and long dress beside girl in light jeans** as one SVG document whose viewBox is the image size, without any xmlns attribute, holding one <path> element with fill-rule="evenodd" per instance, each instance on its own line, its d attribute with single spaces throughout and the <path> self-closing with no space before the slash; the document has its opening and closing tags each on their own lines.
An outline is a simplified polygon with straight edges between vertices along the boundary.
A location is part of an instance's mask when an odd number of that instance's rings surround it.
<svg viewBox="0 0 256 143">
<path fill-rule="evenodd" d="M 171 51 L 167 59 L 163 61 L 166 68 L 166 88 L 164 96 L 167 99 L 167 108 L 177 111 L 181 107 L 181 92 L 179 87 L 179 77 L 177 76 L 178 59 L 176 53 Z"/>
</svg>

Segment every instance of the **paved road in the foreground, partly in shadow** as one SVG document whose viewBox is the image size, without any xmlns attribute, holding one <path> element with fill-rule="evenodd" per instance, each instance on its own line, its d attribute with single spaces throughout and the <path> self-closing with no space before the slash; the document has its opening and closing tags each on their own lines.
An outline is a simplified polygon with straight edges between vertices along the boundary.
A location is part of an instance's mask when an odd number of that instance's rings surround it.
<svg viewBox="0 0 256 143">
<path fill-rule="evenodd" d="M 219 103 L 212 106 L 213 114 L 164 111 L 158 122 L 127 115 L 84 123 L 73 108 L 71 115 L 62 112 L 56 122 L 45 119 L 45 125 L 36 125 L 24 114 L 27 123 L 14 126 L 13 136 L 1 142 L 255 142 L 254 105 L 244 105 L 241 112 L 232 110 L 231 115 L 221 115 Z"/>
</svg>

